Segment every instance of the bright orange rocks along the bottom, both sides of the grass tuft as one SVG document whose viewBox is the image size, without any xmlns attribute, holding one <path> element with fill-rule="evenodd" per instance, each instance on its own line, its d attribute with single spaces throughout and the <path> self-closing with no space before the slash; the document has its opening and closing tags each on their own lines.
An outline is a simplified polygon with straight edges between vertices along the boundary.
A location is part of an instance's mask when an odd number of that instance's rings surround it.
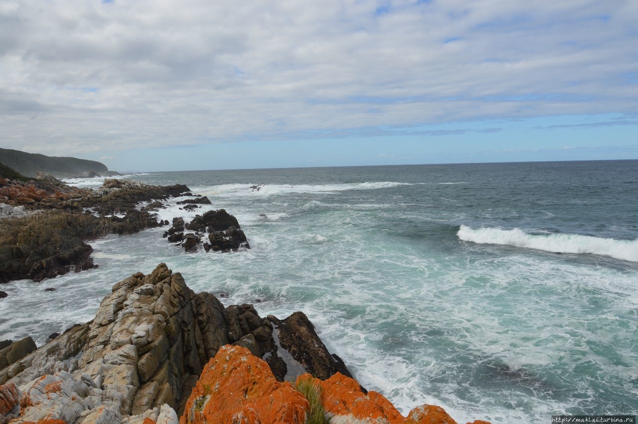
<svg viewBox="0 0 638 424">
<path fill-rule="evenodd" d="M 357 381 L 340 373 L 323 381 L 303 374 L 295 386 L 304 381 L 320 394 L 326 423 L 457 424 L 443 408 L 427 404 L 406 418 L 383 395 L 362 391 Z M 205 365 L 179 424 L 302 424 L 310 407 L 300 391 L 274 378 L 267 363 L 248 349 L 224 346 Z M 477 420 L 473 424 L 489 423 Z"/>
</svg>

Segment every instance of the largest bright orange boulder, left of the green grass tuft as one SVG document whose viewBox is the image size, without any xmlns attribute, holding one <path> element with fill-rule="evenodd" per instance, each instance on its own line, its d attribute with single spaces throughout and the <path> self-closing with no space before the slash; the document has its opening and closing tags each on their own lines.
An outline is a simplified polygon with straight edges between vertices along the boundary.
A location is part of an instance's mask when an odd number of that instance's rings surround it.
<svg viewBox="0 0 638 424">
<path fill-rule="evenodd" d="M 202 371 L 180 424 L 303 424 L 308 400 L 279 383 L 268 364 L 241 346 L 223 346 Z"/>
</svg>

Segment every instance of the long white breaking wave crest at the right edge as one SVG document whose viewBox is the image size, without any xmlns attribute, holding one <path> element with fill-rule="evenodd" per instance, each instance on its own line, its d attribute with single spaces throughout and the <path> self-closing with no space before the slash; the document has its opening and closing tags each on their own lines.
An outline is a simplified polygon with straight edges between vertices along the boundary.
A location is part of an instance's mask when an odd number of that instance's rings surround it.
<svg viewBox="0 0 638 424">
<path fill-rule="evenodd" d="M 470 228 L 461 225 L 457 233 L 461 240 L 480 244 L 501 244 L 527 247 L 547 252 L 590 253 L 611 256 L 619 260 L 638 262 L 638 239 L 591 237 L 577 234 L 527 234 L 520 228 Z"/>
</svg>

